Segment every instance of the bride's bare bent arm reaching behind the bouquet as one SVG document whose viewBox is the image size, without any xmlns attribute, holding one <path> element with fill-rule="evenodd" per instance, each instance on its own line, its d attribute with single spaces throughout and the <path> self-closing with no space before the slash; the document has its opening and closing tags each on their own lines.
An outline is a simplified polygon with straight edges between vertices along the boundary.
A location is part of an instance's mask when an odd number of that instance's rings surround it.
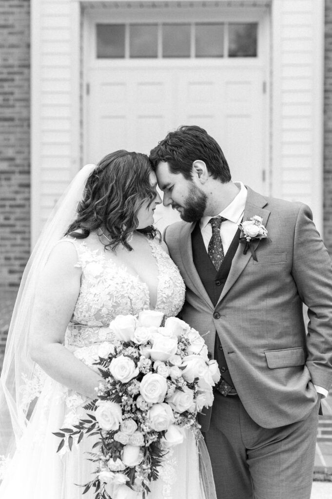
<svg viewBox="0 0 332 499">
<path fill-rule="evenodd" d="M 53 379 L 90 398 L 101 376 L 76 359 L 63 346 L 80 288 L 81 268 L 77 253 L 67 242 L 57 244 L 42 269 L 29 332 L 32 360 Z"/>
</svg>

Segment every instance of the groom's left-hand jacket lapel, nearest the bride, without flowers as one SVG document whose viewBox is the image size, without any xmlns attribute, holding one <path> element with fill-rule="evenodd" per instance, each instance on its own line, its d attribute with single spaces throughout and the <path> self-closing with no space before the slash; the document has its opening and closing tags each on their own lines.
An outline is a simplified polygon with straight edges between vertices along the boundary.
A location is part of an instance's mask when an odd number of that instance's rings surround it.
<svg viewBox="0 0 332 499">
<path fill-rule="evenodd" d="M 213 303 L 198 275 L 193 262 L 193 248 L 191 244 L 191 233 L 193 232 L 195 223 L 186 224 L 182 227 L 179 237 L 180 253 L 182 258 L 182 266 L 186 271 L 186 279 L 190 281 L 191 287 L 198 296 L 200 296 L 211 309 L 214 309 Z M 183 276 L 184 277 L 184 276 Z"/>
</svg>

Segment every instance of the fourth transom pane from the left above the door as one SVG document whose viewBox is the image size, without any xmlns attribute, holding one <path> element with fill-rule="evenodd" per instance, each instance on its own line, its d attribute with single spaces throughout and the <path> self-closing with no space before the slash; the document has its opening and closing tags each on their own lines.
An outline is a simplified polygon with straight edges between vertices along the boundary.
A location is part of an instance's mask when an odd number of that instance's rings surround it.
<svg viewBox="0 0 332 499">
<path fill-rule="evenodd" d="M 222 57 L 224 55 L 224 25 L 196 24 L 196 57 Z"/>
</svg>

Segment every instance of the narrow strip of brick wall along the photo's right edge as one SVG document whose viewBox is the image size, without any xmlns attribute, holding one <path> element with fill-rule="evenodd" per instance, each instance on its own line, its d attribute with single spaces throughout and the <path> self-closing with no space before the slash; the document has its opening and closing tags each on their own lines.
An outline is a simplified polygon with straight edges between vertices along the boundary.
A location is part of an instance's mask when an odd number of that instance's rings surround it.
<svg viewBox="0 0 332 499">
<path fill-rule="evenodd" d="M 325 2 L 324 242 L 332 255 L 332 0 Z"/>
</svg>

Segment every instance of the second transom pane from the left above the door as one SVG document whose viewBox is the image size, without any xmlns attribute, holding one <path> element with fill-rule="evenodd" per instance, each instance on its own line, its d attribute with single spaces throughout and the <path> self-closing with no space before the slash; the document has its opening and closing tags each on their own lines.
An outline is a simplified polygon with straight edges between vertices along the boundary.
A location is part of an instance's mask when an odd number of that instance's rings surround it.
<svg viewBox="0 0 332 499">
<path fill-rule="evenodd" d="M 130 57 L 157 57 L 157 24 L 130 25 Z"/>
</svg>

